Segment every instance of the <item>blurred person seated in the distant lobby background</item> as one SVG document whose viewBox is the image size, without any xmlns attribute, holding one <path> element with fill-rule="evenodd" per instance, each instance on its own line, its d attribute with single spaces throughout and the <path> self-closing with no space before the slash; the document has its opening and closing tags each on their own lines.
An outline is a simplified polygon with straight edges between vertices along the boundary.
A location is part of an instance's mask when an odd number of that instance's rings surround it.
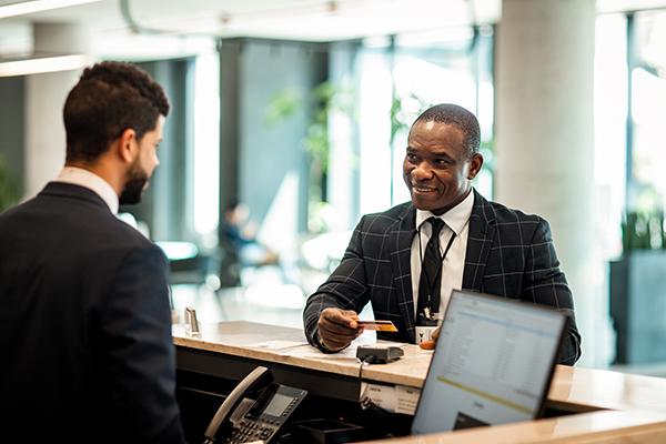
<svg viewBox="0 0 666 444">
<path fill-rule="evenodd" d="M 278 253 L 256 239 L 256 224 L 250 220 L 250 210 L 244 203 L 232 201 L 224 210 L 223 235 L 233 248 L 241 266 L 276 265 Z"/>
</svg>

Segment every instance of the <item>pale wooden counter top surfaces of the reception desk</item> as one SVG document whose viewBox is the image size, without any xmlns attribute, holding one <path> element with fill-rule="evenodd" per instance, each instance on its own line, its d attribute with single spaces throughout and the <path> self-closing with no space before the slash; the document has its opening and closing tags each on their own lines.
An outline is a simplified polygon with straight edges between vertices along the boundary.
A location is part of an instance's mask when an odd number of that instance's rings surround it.
<svg viewBox="0 0 666 444">
<path fill-rule="evenodd" d="M 351 353 L 323 354 L 306 344 L 303 332 L 251 322 L 203 324 L 199 339 L 173 327 L 179 347 L 249 357 L 258 361 L 357 377 L 359 362 Z M 268 341 L 287 341 L 290 347 L 262 347 Z M 286 343 L 285 343 L 286 344 Z M 300 344 L 300 345 L 299 345 Z M 259 346 L 258 346 L 259 345 Z M 369 365 L 363 379 L 421 389 L 432 352 L 405 344 L 405 355 L 393 363 Z M 666 443 L 666 379 L 558 365 L 548 405 L 587 412 L 502 426 L 391 440 L 392 443 Z"/>
</svg>

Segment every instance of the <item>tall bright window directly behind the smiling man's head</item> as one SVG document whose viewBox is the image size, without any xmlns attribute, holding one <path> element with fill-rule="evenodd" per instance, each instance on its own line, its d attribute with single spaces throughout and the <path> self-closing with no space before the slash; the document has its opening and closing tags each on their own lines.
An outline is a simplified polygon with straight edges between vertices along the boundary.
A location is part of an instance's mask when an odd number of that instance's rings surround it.
<svg viewBox="0 0 666 444">
<path fill-rule="evenodd" d="M 410 199 L 402 162 L 410 125 L 436 103 L 474 112 L 486 168 L 476 186 L 492 198 L 492 28 L 451 28 L 369 39 L 360 52 L 360 213 Z"/>
</svg>

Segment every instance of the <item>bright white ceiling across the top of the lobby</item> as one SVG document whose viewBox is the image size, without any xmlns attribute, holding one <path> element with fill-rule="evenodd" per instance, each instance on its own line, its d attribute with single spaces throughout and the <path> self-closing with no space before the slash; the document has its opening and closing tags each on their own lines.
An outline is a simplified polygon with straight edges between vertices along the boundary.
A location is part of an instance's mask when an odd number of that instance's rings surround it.
<svg viewBox="0 0 666 444">
<path fill-rule="evenodd" d="M 0 6 L 20 1 L 0 0 Z M 502 0 L 101 0 L 0 19 L 0 57 L 30 51 L 32 22 L 79 23 L 92 32 L 94 54 L 141 58 L 191 52 L 212 44 L 211 36 L 332 41 L 493 23 L 501 19 L 501 4 Z M 666 0 L 597 0 L 599 12 L 662 7 Z"/>
</svg>

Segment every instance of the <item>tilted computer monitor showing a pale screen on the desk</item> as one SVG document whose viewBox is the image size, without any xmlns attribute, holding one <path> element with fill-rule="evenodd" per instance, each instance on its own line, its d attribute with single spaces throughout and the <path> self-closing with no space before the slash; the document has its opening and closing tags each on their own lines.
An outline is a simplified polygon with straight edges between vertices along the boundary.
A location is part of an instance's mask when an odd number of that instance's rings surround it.
<svg viewBox="0 0 666 444">
<path fill-rule="evenodd" d="M 565 325 L 554 309 L 454 291 L 412 434 L 541 415 Z"/>
</svg>

